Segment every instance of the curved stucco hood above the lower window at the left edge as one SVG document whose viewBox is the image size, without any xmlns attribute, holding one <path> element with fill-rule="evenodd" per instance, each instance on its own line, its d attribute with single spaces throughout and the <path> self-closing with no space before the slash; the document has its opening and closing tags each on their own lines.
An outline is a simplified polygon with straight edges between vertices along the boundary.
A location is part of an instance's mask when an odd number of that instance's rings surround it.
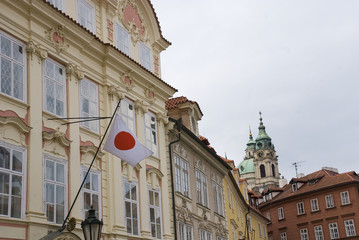
<svg viewBox="0 0 359 240">
<path fill-rule="evenodd" d="M 17 116 L 0 117 L 0 138 L 25 146 L 24 133 L 29 133 L 31 129 Z"/>
</svg>

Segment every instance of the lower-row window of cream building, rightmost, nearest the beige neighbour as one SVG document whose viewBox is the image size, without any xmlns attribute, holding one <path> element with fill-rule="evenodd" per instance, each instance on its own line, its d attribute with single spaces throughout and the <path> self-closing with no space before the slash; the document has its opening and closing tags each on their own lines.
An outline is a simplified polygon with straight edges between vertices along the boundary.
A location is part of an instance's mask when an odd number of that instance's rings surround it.
<svg viewBox="0 0 359 240">
<path fill-rule="evenodd" d="M 150 207 L 150 228 L 152 237 L 162 239 L 161 235 L 161 202 L 160 192 L 148 190 L 148 199 Z"/>
</svg>

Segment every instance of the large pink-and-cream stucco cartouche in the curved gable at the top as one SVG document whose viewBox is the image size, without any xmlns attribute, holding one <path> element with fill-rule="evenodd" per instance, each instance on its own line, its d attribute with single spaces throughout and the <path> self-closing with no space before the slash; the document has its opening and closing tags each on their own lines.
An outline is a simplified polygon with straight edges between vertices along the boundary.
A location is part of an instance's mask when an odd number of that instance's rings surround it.
<svg viewBox="0 0 359 240">
<path fill-rule="evenodd" d="M 149 41 L 143 14 L 133 0 L 124 0 L 120 3 L 119 19 L 131 35 L 134 46 L 139 40 Z"/>
</svg>

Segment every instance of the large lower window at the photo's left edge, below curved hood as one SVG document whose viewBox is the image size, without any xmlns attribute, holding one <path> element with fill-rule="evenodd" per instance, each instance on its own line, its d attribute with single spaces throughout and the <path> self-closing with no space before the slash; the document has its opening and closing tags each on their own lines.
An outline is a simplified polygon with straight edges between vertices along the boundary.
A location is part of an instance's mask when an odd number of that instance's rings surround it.
<svg viewBox="0 0 359 240">
<path fill-rule="evenodd" d="M 22 218 L 24 215 L 25 157 L 24 149 L 0 142 L 0 216 L 2 217 Z"/>
</svg>

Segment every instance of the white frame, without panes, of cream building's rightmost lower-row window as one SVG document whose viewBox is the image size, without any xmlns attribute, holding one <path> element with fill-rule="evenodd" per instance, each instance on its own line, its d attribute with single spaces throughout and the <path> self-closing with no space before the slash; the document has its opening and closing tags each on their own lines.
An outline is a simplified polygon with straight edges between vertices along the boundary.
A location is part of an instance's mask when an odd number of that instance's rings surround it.
<svg viewBox="0 0 359 240">
<path fill-rule="evenodd" d="M 152 192 L 152 201 L 151 201 Z M 158 194 L 158 205 L 156 205 L 156 197 Z M 149 205 L 149 218 L 150 218 L 150 231 L 153 238 L 162 239 L 162 213 L 161 213 L 161 191 L 148 188 L 148 205 Z M 151 210 L 153 210 L 154 219 L 151 218 Z M 157 219 L 159 218 L 159 222 Z M 154 220 L 154 221 L 153 221 Z M 154 226 L 154 232 L 152 227 Z"/>
</svg>

